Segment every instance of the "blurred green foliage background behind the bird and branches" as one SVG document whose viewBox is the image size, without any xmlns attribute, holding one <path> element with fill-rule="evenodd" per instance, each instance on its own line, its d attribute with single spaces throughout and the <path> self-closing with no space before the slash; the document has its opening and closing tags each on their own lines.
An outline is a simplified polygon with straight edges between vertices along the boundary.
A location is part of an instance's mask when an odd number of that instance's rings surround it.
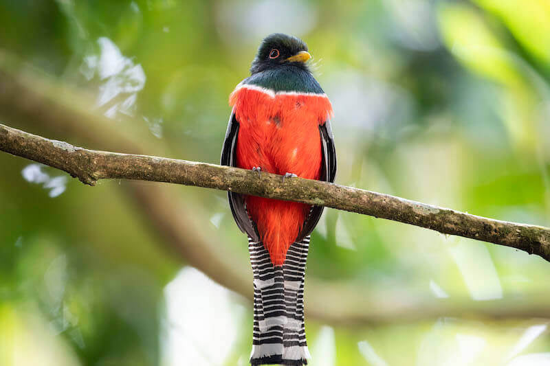
<svg viewBox="0 0 550 366">
<path fill-rule="evenodd" d="M 259 41 L 296 34 L 333 102 L 338 183 L 550 226 L 549 4 L 0 0 L 0 49 L 91 96 L 87 111 L 123 135 L 145 128 L 144 145 L 216 163 L 228 95 Z M 5 115 L 10 126 L 77 142 Z M 128 183 L 92 189 L 6 154 L 0 167 L 1 365 L 247 364 L 250 306 L 178 272 L 122 194 Z M 219 245 L 248 256 L 224 192 L 173 192 Z M 547 293 L 549 275 L 549 263 L 525 253 L 333 210 L 314 232 L 307 271 L 434 301 L 529 299 Z M 312 365 L 548 365 L 537 355 L 550 350 L 547 323 L 528 313 L 351 328 L 309 321 L 307 334 Z"/>
</svg>

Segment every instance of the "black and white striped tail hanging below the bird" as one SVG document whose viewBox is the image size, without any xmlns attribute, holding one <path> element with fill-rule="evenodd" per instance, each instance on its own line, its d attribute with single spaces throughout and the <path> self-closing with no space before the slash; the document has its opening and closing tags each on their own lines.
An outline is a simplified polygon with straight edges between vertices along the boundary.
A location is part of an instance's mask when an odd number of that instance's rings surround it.
<svg viewBox="0 0 550 366">
<path fill-rule="evenodd" d="M 252 366 L 307 365 L 304 328 L 304 276 L 309 236 L 287 251 L 283 266 L 274 266 L 261 242 L 248 240 L 254 272 Z"/>
</svg>

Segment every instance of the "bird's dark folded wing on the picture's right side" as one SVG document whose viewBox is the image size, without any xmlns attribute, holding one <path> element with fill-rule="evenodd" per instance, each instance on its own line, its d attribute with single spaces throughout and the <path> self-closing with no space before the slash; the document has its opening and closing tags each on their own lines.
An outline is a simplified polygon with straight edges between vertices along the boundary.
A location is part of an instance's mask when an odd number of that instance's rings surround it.
<svg viewBox="0 0 550 366">
<path fill-rule="evenodd" d="M 331 122 L 329 119 L 319 126 L 319 133 L 321 137 L 321 150 L 322 150 L 322 169 L 320 181 L 334 182 L 336 177 L 336 150 L 334 148 L 334 137 L 332 135 Z M 322 210 L 325 207 L 322 206 L 313 206 L 311 211 L 309 211 L 309 216 L 304 222 L 296 242 L 300 242 L 308 236 L 311 231 L 314 231 L 317 222 L 322 215 Z"/>
</svg>

